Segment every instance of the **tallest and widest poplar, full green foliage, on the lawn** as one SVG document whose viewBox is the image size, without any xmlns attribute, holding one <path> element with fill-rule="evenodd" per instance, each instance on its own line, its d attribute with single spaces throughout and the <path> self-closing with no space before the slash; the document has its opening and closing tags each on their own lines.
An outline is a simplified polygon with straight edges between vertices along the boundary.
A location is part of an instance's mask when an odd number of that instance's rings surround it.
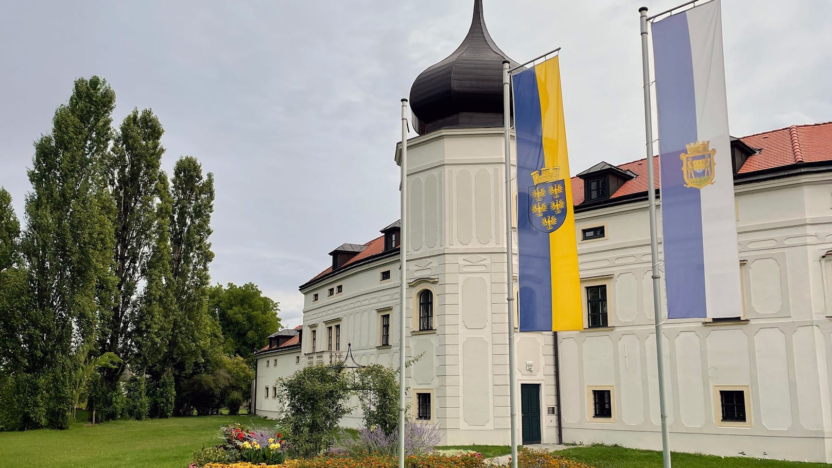
<svg viewBox="0 0 832 468">
<path fill-rule="evenodd" d="M 106 167 L 115 102 L 102 78 L 77 79 L 69 102 L 55 111 L 52 132 L 35 142 L 28 172 L 21 251 L 32 300 L 26 322 L 37 337 L 23 345 L 22 371 L 52 428 L 69 426 L 77 378 L 97 359 L 94 345 L 113 307 L 115 207 Z M 22 421 L 22 428 L 42 422 Z"/>
</svg>

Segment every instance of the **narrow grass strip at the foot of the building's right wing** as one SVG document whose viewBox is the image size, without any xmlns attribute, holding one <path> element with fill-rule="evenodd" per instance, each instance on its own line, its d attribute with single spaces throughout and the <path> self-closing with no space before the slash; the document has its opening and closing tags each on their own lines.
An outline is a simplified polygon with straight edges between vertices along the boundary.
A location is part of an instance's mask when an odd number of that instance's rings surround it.
<svg viewBox="0 0 832 468">
<path fill-rule="evenodd" d="M 595 468 L 661 468 L 660 451 L 640 451 L 619 446 L 576 446 L 557 452 L 572 461 L 581 461 Z M 671 455 L 674 468 L 830 468 L 825 463 L 756 460 L 753 458 L 695 455 Z"/>
</svg>

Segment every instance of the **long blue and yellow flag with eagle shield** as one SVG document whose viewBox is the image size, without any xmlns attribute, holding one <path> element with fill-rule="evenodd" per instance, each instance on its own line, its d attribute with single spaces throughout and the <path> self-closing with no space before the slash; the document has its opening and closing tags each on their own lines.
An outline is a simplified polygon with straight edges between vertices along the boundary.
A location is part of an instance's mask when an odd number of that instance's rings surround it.
<svg viewBox="0 0 832 468">
<path fill-rule="evenodd" d="M 520 331 L 582 330 L 558 57 L 513 76 Z"/>
</svg>

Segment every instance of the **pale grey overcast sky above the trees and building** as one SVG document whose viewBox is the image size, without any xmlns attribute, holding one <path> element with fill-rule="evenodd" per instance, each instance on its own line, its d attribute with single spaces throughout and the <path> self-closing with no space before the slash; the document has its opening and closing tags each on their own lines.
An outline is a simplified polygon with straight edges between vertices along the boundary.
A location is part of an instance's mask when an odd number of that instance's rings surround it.
<svg viewBox="0 0 832 468">
<path fill-rule="evenodd" d="M 572 172 L 643 157 L 637 9 L 678 0 L 485 0 L 518 62 L 561 46 Z M 448 56 L 473 0 L 4 2 L 0 186 L 22 218 L 32 142 L 77 77 L 116 91 L 114 123 L 151 107 L 169 171 L 216 177 L 215 282 L 253 281 L 300 323 L 327 252 L 399 217 L 399 99 Z M 832 120 L 832 2 L 723 0 L 730 132 Z"/>
</svg>

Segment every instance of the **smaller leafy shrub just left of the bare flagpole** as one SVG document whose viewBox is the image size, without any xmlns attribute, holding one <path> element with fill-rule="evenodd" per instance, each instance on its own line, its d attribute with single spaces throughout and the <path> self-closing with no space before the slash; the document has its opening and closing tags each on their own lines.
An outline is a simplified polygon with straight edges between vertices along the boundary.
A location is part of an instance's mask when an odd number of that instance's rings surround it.
<svg viewBox="0 0 832 468">
<path fill-rule="evenodd" d="M 380 364 L 355 371 L 355 394 L 364 414 L 364 427 L 392 434 L 399 426 L 399 372 Z"/>
</svg>

